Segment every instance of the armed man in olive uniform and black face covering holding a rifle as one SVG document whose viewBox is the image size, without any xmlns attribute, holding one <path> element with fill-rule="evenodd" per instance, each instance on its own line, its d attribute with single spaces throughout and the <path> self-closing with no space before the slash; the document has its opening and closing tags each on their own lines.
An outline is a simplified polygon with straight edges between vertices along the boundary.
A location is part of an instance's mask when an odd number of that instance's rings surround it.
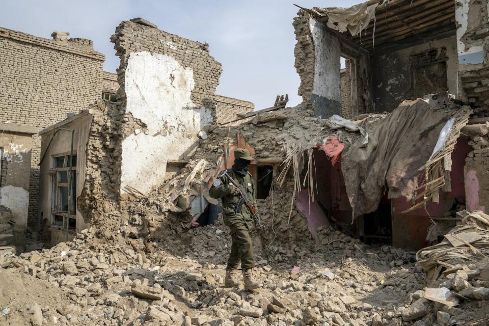
<svg viewBox="0 0 489 326">
<path fill-rule="evenodd" d="M 255 216 L 255 212 L 251 211 L 253 207 L 256 207 L 256 199 L 253 177 L 248 172 L 248 167 L 253 160 L 254 158 L 248 150 L 243 148 L 234 150 L 234 165 L 231 169 L 221 172 L 209 190 L 209 195 L 212 198 L 222 199 L 224 224 L 231 229 L 232 246 L 226 267 L 224 286 L 239 287 L 239 270 L 237 268 L 241 262 L 244 290 L 246 291 L 263 286 L 253 276 L 255 259 L 253 258 L 250 229 L 256 224 L 252 218 Z M 241 189 L 246 194 L 241 194 Z M 243 195 L 246 195 L 247 199 L 252 202 L 248 206 L 244 202 L 243 197 L 245 196 Z"/>
</svg>

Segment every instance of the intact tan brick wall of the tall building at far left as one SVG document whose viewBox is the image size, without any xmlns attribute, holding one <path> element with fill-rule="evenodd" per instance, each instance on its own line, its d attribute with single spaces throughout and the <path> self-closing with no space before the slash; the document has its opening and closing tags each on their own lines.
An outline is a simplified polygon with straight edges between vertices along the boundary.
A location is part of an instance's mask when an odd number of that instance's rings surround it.
<svg viewBox="0 0 489 326">
<path fill-rule="evenodd" d="M 101 96 L 105 57 L 84 39 L 50 40 L 0 28 L 0 121 L 39 130 Z M 37 220 L 40 137 L 34 135 L 29 223 Z"/>
</svg>

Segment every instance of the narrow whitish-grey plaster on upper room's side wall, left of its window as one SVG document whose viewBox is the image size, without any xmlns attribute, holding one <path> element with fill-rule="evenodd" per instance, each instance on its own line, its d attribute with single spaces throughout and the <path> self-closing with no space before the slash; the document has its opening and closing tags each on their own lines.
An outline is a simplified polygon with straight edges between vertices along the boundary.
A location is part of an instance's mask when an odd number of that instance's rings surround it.
<svg viewBox="0 0 489 326">
<path fill-rule="evenodd" d="M 340 44 L 337 38 L 324 31 L 316 21 L 309 20 L 314 41 L 313 94 L 341 103 Z"/>
</svg>

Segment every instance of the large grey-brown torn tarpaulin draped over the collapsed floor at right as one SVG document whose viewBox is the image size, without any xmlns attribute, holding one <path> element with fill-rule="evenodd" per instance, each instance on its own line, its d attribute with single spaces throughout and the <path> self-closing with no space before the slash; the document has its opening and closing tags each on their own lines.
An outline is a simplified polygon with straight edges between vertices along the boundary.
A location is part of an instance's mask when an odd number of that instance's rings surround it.
<svg viewBox="0 0 489 326">
<path fill-rule="evenodd" d="M 386 186 L 389 198 L 411 200 L 420 190 L 423 175 L 420 168 L 430 161 L 446 122 L 454 118 L 457 128 L 453 130 L 458 130 L 467 123 L 471 112 L 469 106 L 453 103 L 450 108 L 432 107 L 417 99 L 404 101 L 386 118 L 367 123 L 367 146 L 352 143 L 341 155 L 341 171 L 353 217 L 375 211 Z M 457 138 L 456 132 L 450 132 L 450 144 L 455 144 Z M 433 187 L 429 190 L 438 189 Z"/>
</svg>

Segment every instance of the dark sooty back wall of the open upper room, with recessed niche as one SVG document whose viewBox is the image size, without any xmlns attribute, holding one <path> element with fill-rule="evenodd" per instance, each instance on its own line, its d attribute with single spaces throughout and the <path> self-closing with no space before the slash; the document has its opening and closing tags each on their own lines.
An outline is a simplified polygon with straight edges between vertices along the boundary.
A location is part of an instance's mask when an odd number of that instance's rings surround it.
<svg viewBox="0 0 489 326">
<path fill-rule="evenodd" d="M 372 53 L 376 112 L 391 112 L 403 100 L 448 91 L 458 94 L 456 37 L 376 49 Z"/>
</svg>

